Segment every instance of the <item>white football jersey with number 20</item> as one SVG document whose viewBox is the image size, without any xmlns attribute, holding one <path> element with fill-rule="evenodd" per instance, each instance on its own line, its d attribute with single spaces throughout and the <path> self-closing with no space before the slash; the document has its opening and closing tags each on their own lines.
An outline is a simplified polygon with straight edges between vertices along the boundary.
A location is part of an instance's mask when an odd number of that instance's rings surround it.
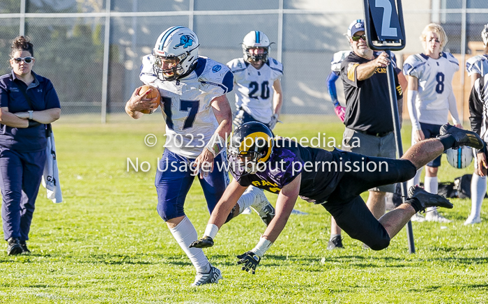
<svg viewBox="0 0 488 304">
<path fill-rule="evenodd" d="M 234 73 L 236 107 L 242 108 L 261 123 L 269 123 L 273 116 L 273 83 L 283 75 L 280 61 L 268 57 L 259 70 L 243 58 L 229 61 L 227 66 Z"/>
</svg>

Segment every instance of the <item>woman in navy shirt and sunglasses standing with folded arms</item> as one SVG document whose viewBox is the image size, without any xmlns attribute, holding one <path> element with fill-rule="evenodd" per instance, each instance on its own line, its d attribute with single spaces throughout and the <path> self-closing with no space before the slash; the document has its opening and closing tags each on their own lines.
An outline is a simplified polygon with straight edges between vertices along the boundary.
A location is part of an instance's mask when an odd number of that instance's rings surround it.
<svg viewBox="0 0 488 304">
<path fill-rule="evenodd" d="M 49 79 L 33 73 L 33 45 L 13 40 L 12 72 L 0 77 L 0 188 L 7 254 L 29 253 L 34 203 L 46 162 L 46 124 L 59 119 L 59 98 Z"/>
</svg>

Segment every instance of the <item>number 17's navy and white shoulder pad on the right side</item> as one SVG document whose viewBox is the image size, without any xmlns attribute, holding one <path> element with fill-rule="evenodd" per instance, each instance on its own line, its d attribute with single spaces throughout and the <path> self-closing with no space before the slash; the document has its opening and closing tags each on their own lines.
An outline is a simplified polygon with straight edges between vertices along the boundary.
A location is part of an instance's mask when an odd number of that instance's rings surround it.
<svg viewBox="0 0 488 304">
<path fill-rule="evenodd" d="M 220 86 L 224 93 L 230 92 L 234 88 L 234 75 L 231 70 L 223 63 L 213 59 L 200 56 L 195 73 L 197 73 L 199 82 Z"/>
</svg>

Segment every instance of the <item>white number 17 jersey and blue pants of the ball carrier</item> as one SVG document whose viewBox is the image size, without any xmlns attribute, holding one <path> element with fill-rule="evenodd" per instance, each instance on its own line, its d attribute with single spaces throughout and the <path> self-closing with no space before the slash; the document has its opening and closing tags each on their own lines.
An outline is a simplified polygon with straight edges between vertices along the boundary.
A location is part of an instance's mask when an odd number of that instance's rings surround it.
<svg viewBox="0 0 488 304">
<path fill-rule="evenodd" d="M 206 149 L 217 130 L 211 102 L 232 91 L 234 77 L 222 63 L 200 56 L 197 66 L 188 76 L 161 81 L 153 73 L 153 56 L 142 61 L 139 78 L 159 89 L 162 115 L 166 121 L 165 151 L 158 164 L 155 187 L 158 192 L 158 213 L 165 221 L 185 215 L 183 205 L 195 179 L 192 162 Z M 215 205 L 229 184 L 225 151 L 214 159 L 213 172 L 199 178 L 208 211 Z"/>
</svg>

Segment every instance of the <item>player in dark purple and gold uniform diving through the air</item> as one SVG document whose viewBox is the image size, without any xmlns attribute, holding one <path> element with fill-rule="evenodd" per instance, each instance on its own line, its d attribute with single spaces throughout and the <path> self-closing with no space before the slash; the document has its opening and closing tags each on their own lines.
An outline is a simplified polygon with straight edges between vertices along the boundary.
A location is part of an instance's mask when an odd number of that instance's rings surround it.
<svg viewBox="0 0 488 304">
<path fill-rule="evenodd" d="M 289 139 L 273 137 L 262 123 L 245 123 L 234 130 L 229 141 L 234 180 L 208 221 L 206 231 L 211 233 L 204 234 L 190 247 L 211 247 L 238 197 L 249 185 L 257 185 L 278 195 L 276 215 L 259 243 L 238 255 L 238 264 L 244 271 L 254 273 L 261 257 L 287 224 L 298 196 L 326 208 L 351 238 L 372 250 L 382 250 L 413 214 L 434 206 L 452 208 L 452 204 L 440 195 L 413 186 L 404 204 L 376 220 L 360 194 L 379 185 L 407 181 L 415 176 L 418 168 L 443 151 L 461 145 L 483 149 L 485 142 L 475 132 L 446 124 L 441 128 L 441 136 L 418 142 L 401 159 L 391 159 L 305 147 Z"/>
</svg>

